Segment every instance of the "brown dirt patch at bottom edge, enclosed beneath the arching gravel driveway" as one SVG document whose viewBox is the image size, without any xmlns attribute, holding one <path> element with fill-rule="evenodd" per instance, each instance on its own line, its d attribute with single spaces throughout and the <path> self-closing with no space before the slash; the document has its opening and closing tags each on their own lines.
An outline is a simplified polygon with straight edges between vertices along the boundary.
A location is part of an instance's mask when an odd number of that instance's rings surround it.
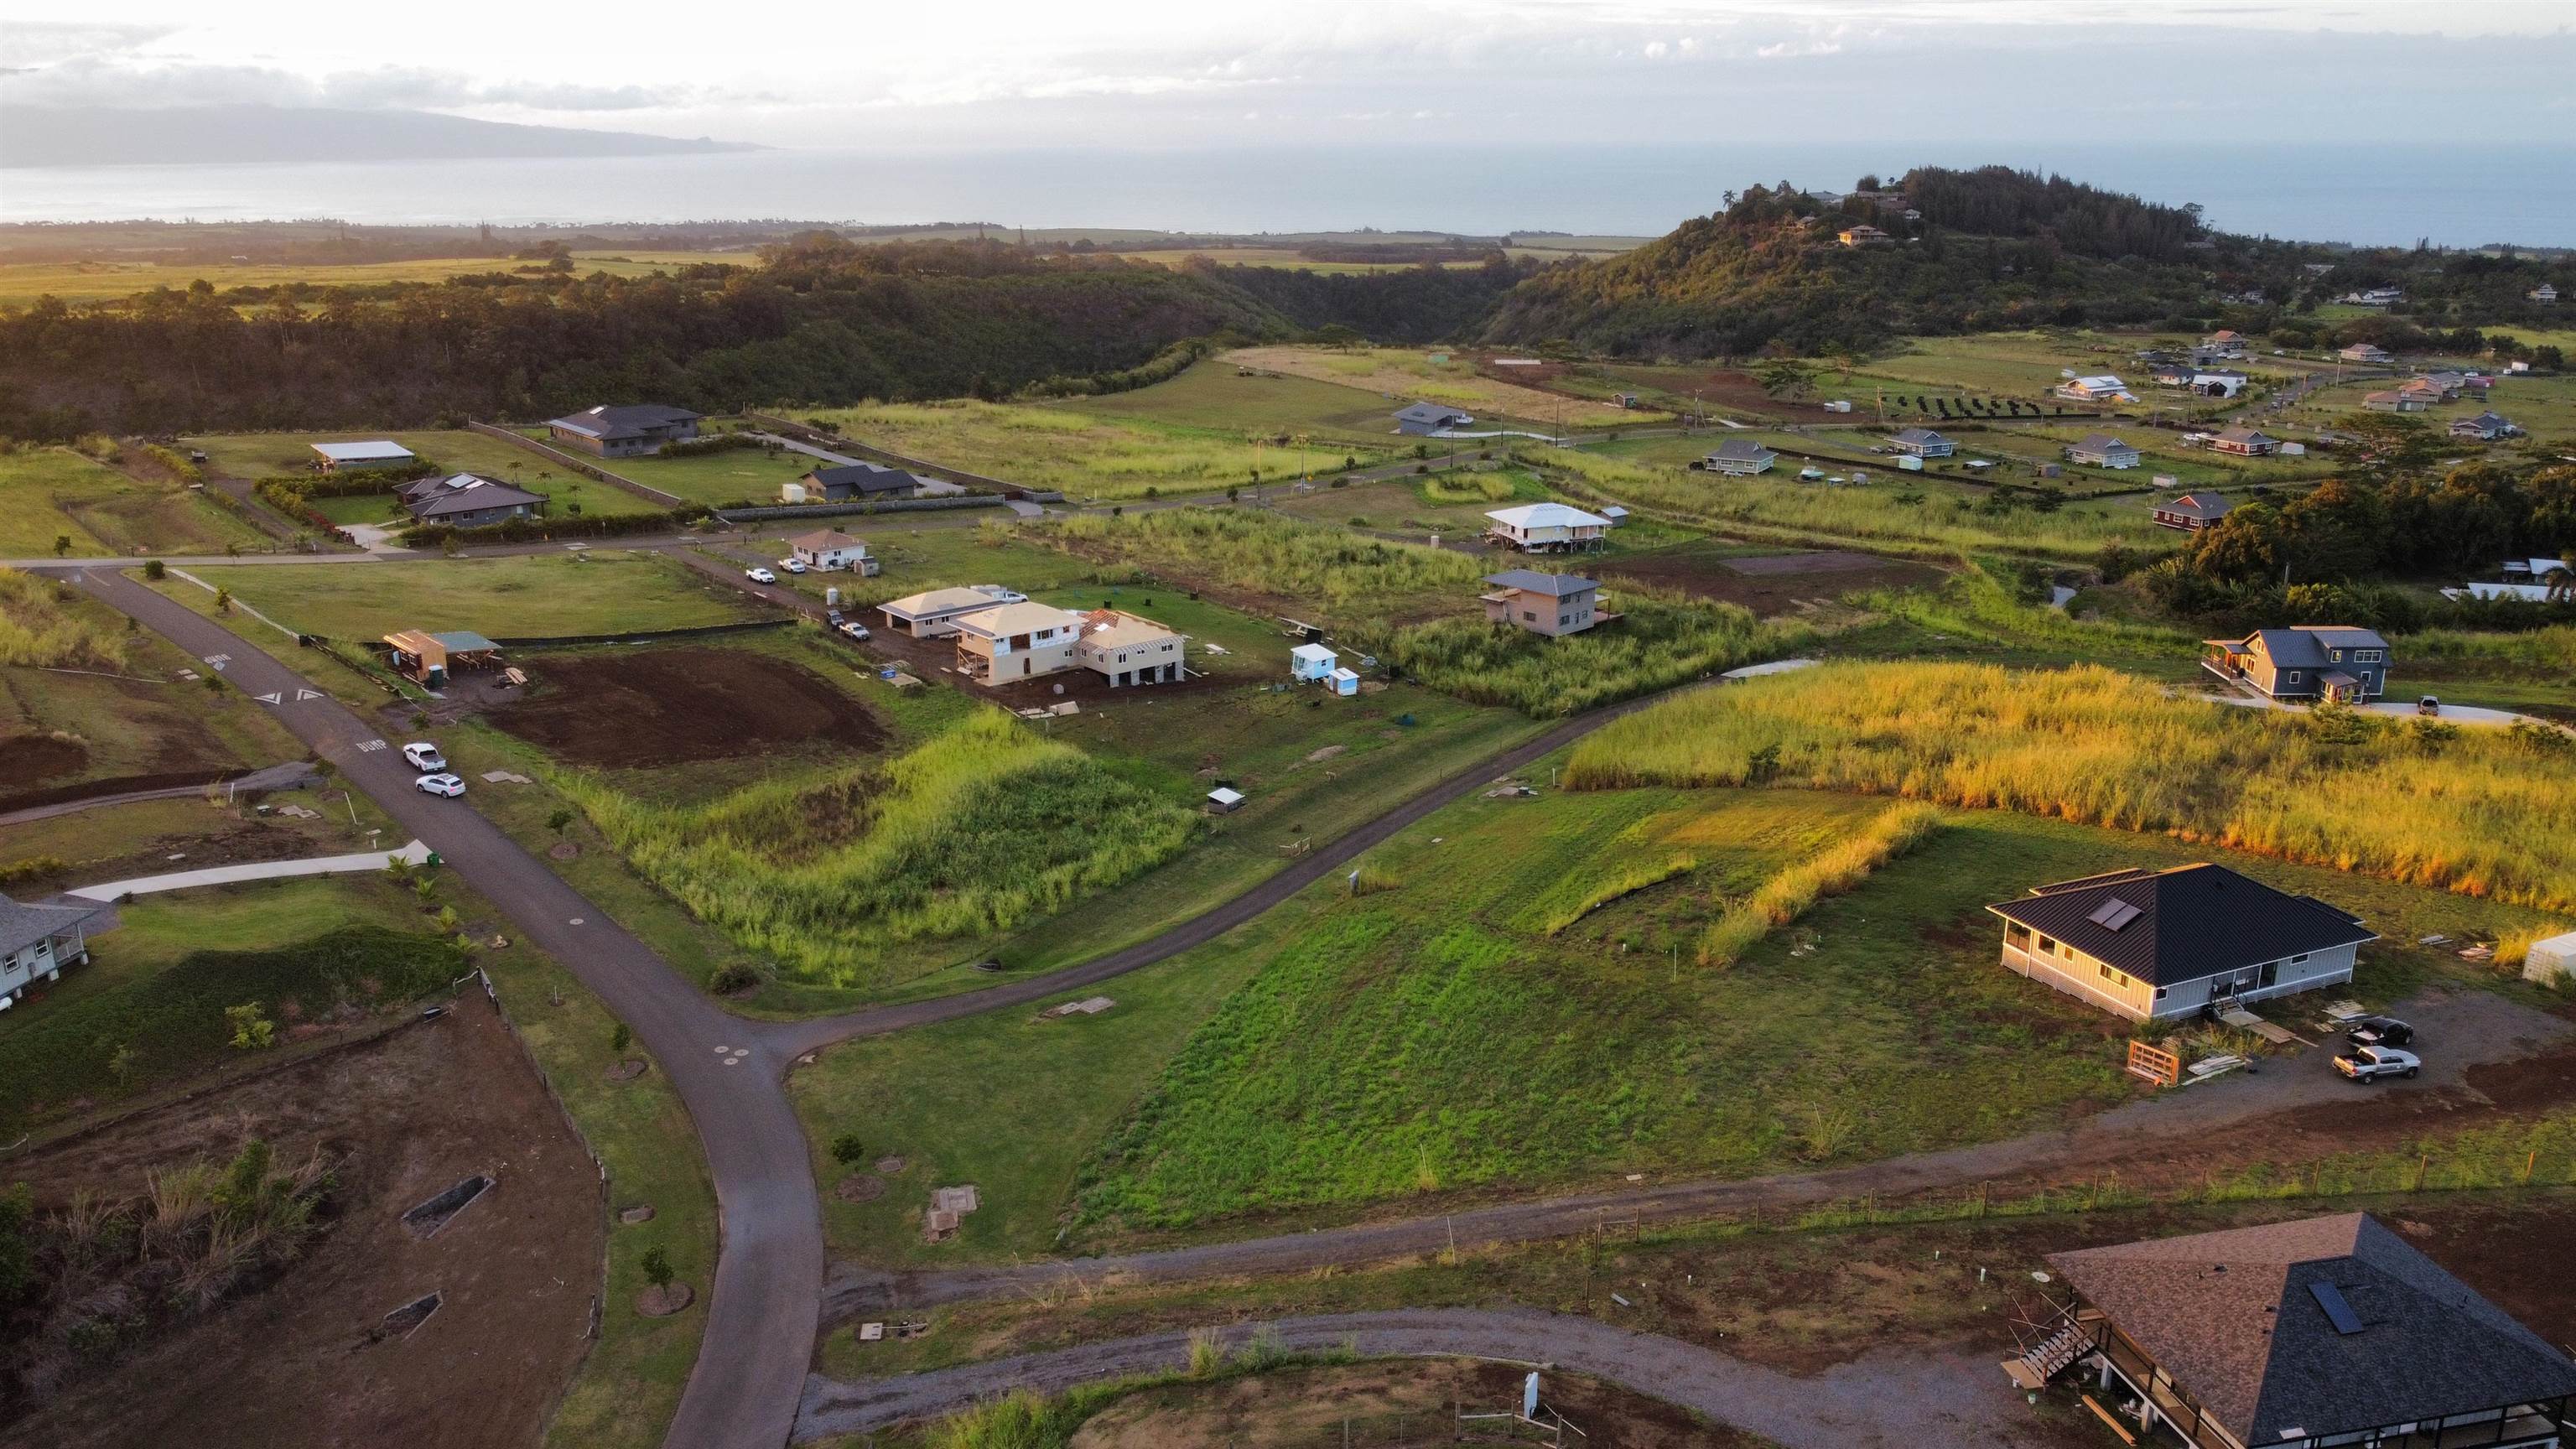
<svg viewBox="0 0 2576 1449">
<path fill-rule="evenodd" d="M 1074 1449 L 1391 1449 L 1396 1444 L 1530 1444 L 1510 1423 L 1458 1423 L 1461 1413 L 1520 1408 L 1525 1369 L 1419 1359 L 1283 1369 L 1226 1385 L 1172 1385 L 1131 1395 L 1074 1434 Z M 1574 1374 L 1546 1374 L 1540 1397 L 1587 1449 L 1757 1449 L 1759 1439 L 1698 1423 L 1690 1410 Z M 1546 1439 L 1535 1439 L 1543 1444 Z"/>
</svg>

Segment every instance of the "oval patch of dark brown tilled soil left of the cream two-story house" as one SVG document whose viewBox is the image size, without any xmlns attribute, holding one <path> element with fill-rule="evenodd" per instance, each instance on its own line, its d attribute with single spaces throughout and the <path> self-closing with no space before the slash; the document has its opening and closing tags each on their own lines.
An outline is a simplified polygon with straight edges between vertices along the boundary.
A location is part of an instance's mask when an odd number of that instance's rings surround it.
<svg viewBox="0 0 2576 1449">
<path fill-rule="evenodd" d="M 541 655 L 536 686 L 489 714 L 572 766 L 641 768 L 786 745 L 878 750 L 886 730 L 814 670 L 752 650 Z"/>
</svg>

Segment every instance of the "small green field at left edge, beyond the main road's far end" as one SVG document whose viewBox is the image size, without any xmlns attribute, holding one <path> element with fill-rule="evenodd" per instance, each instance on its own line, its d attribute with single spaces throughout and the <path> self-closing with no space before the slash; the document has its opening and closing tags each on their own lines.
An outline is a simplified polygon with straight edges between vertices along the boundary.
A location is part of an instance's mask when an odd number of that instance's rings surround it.
<svg viewBox="0 0 2576 1449">
<path fill-rule="evenodd" d="M 72 449 L 0 449 L 0 557 L 219 554 L 268 539 L 180 482 L 144 482 Z"/>
</svg>

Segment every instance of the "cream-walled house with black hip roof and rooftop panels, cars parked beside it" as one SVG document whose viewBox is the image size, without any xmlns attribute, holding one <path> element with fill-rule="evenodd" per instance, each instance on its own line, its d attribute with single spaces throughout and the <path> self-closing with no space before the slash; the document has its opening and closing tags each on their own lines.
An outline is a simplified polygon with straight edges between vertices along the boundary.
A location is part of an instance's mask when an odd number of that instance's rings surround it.
<svg viewBox="0 0 2576 1449">
<path fill-rule="evenodd" d="M 2043 884 L 1986 910 L 2004 918 L 2004 967 L 2130 1021 L 2349 982 L 2378 941 L 2357 915 L 2208 861 Z"/>
</svg>

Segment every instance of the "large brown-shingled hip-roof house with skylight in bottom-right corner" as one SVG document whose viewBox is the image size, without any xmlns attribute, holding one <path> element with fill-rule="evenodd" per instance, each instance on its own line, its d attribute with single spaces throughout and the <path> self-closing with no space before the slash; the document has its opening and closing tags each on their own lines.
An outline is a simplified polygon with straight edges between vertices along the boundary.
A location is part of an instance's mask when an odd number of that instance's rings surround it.
<svg viewBox="0 0 2576 1449">
<path fill-rule="evenodd" d="M 2136 1405 L 2146 1444 L 2555 1449 L 2576 1431 L 2576 1361 L 2367 1212 L 2048 1266 L 2076 1294 L 2058 1361 Z"/>
</svg>

